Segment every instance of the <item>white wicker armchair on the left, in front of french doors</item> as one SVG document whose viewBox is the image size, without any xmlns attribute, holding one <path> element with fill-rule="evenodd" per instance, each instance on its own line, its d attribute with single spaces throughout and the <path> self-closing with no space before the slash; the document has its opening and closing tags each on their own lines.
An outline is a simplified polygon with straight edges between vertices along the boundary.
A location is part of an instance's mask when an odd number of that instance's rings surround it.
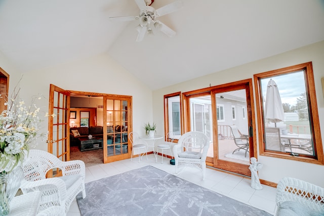
<svg viewBox="0 0 324 216">
<path fill-rule="evenodd" d="M 47 172 L 53 168 L 59 168 L 62 177 L 46 179 Z M 21 191 L 24 194 L 42 192 L 39 213 L 52 206 L 55 206 L 52 209 L 59 206 L 66 213 L 77 194 L 82 192 L 82 197 L 86 197 L 85 163 L 81 160 L 61 161 L 49 152 L 29 150 L 23 170 L 25 178 Z"/>
</svg>

